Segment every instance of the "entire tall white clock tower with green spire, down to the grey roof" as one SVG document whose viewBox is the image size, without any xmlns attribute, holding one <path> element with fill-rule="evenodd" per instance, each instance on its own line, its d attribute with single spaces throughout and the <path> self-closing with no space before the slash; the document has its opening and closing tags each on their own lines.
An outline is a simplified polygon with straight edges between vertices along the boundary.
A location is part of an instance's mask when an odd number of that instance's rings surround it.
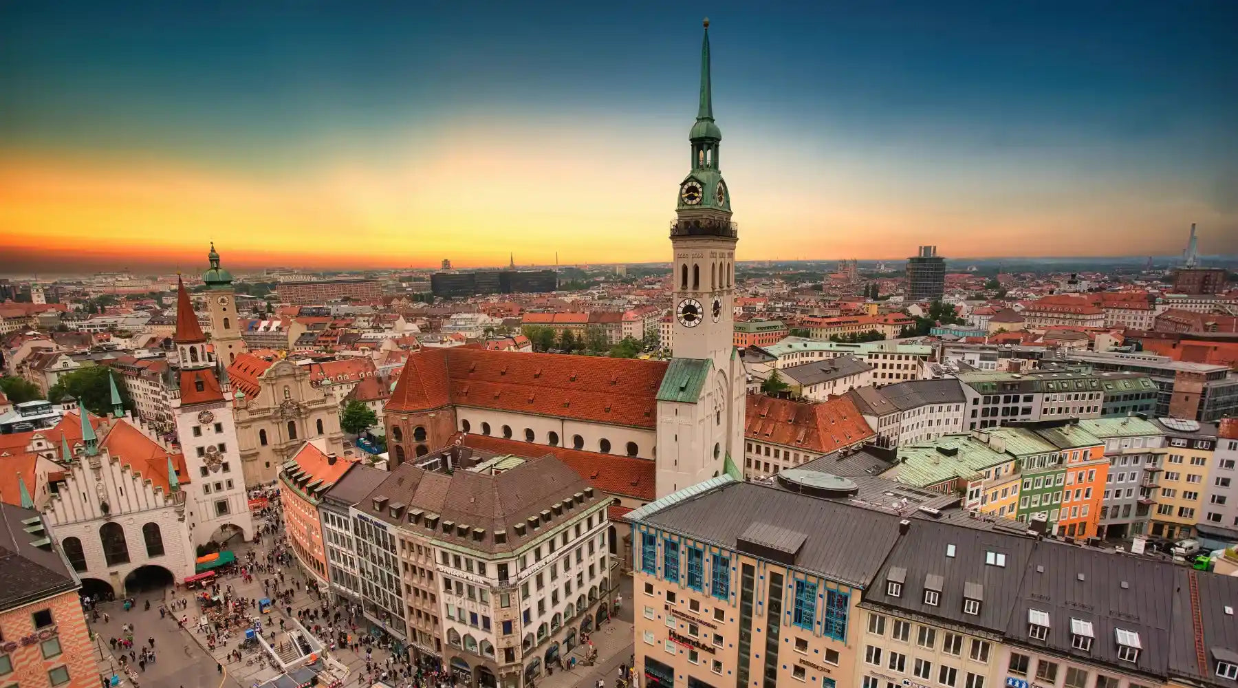
<svg viewBox="0 0 1238 688">
<path fill-rule="evenodd" d="M 701 92 L 688 132 L 692 158 L 671 221 L 675 358 L 657 391 L 657 496 L 723 473 L 743 480 L 744 366 L 734 348 L 730 189 L 722 178 L 709 74 L 709 20 L 701 43 Z"/>
</svg>

